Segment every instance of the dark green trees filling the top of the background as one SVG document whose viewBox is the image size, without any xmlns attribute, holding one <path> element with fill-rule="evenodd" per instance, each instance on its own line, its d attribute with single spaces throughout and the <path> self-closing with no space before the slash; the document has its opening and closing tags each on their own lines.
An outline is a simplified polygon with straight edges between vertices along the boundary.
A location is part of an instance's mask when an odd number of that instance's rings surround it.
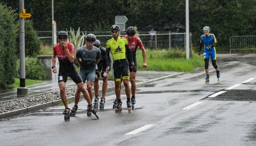
<svg viewBox="0 0 256 146">
<path fill-rule="evenodd" d="M 19 1 L 0 0 L 19 13 Z M 193 0 L 189 1 L 189 31 L 193 42 L 199 44 L 203 27 L 209 26 L 218 45 L 229 46 L 231 36 L 247 36 L 255 33 L 255 10 L 253 0 Z M 52 2 L 49 0 L 25 0 L 36 31 L 52 30 Z M 54 0 L 54 20 L 57 30 L 70 27 L 81 31 L 110 31 L 115 16 L 128 18 L 126 27 L 136 25 L 139 31 L 154 25 L 158 31 L 174 23 L 186 24 L 186 1 L 174 0 Z M 18 18 L 17 18 L 18 19 Z"/>
</svg>

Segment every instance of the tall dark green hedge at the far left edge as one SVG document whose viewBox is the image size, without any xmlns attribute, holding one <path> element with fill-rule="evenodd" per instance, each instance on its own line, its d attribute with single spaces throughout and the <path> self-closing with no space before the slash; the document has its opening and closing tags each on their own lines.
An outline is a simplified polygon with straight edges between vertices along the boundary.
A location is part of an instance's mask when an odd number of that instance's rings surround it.
<svg viewBox="0 0 256 146">
<path fill-rule="evenodd" d="M 14 83 L 16 65 L 15 55 L 15 18 L 18 14 L 10 7 L 0 4 L 0 88 L 5 89 Z"/>
</svg>

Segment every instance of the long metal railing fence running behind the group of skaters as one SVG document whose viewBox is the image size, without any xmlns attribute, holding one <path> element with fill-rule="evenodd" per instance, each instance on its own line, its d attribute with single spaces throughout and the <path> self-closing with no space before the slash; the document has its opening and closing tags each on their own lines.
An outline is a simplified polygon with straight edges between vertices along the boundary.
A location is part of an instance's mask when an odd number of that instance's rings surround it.
<svg viewBox="0 0 256 146">
<path fill-rule="evenodd" d="M 58 33 L 58 32 L 57 32 Z M 75 32 L 76 33 L 76 32 Z M 111 32 L 89 32 L 81 31 L 82 33 L 93 33 L 97 39 L 100 40 L 101 46 L 105 47 L 107 40 L 112 38 Z M 37 31 L 38 38 L 41 40 L 42 45 L 52 46 L 52 31 Z M 119 36 L 123 37 L 126 32 L 121 32 Z M 186 33 L 173 33 L 173 32 L 156 32 L 155 40 L 150 40 L 150 34 L 148 32 L 140 32 L 139 38 L 143 45 L 147 49 L 178 49 L 178 41 L 176 35 L 182 35 L 182 43 L 180 50 L 184 51 L 186 48 Z M 191 38 L 191 37 L 190 37 Z M 191 41 L 191 40 L 190 40 Z M 85 44 L 84 44 L 85 45 Z"/>
</svg>

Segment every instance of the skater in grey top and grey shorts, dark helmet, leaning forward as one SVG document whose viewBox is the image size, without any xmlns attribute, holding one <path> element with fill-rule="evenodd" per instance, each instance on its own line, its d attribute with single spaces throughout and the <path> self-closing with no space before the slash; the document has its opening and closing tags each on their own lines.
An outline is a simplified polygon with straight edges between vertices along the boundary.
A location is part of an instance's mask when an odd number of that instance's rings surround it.
<svg viewBox="0 0 256 146">
<path fill-rule="evenodd" d="M 95 35 L 92 33 L 88 34 L 85 38 L 86 45 L 78 48 L 76 52 L 76 60 L 79 64 L 81 64 L 81 68 L 79 71 L 79 74 L 85 82 L 87 80 L 87 90 L 90 95 L 90 99 L 93 99 L 93 91 L 92 91 L 92 85 L 95 80 L 95 71 L 96 71 L 96 64 L 100 61 L 100 49 L 97 47 L 94 47 L 94 42 L 96 40 Z M 78 102 L 80 99 L 81 91 L 79 89 L 76 90 L 75 93 L 75 106 L 71 110 L 72 113 L 76 113 L 76 110 L 78 108 Z M 88 105 L 92 106 L 92 105 Z M 87 110 L 87 116 L 90 116 L 90 112 Z"/>
</svg>

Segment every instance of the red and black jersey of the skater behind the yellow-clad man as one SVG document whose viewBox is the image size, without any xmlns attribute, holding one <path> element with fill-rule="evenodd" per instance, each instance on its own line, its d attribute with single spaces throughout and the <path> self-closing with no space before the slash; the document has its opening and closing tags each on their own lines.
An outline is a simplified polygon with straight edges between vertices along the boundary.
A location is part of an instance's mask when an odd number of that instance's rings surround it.
<svg viewBox="0 0 256 146">
<path fill-rule="evenodd" d="M 127 36 L 123 38 L 127 39 L 130 50 L 132 51 L 132 57 L 136 57 L 136 51 L 138 46 L 140 48 L 144 47 L 140 38 L 134 36 L 132 40 L 129 40 Z"/>
</svg>

